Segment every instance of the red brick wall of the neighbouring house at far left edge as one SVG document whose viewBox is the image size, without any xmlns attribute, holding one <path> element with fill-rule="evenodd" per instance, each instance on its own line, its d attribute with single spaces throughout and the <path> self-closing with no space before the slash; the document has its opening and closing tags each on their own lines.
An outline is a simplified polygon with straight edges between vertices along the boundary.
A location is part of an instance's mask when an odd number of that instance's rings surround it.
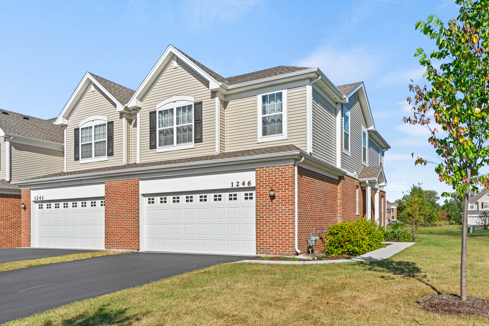
<svg viewBox="0 0 489 326">
<path fill-rule="evenodd" d="M 0 249 L 21 246 L 21 195 L 0 194 Z"/>
</svg>

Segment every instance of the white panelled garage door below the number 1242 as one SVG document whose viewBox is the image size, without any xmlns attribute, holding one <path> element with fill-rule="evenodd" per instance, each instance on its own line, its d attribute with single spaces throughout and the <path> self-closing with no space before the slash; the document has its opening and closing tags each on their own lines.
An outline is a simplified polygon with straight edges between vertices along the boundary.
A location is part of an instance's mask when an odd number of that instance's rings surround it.
<svg viewBox="0 0 489 326">
<path fill-rule="evenodd" d="M 105 200 L 36 202 L 34 245 L 40 248 L 105 249 Z"/>
</svg>

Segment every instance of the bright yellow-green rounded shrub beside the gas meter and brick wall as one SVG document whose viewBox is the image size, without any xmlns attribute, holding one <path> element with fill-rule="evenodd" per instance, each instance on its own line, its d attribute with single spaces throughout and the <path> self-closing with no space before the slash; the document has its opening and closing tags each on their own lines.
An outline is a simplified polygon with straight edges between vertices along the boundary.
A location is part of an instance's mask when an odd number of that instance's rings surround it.
<svg viewBox="0 0 489 326">
<path fill-rule="evenodd" d="M 383 248 L 384 231 L 373 220 L 364 218 L 356 222 L 341 222 L 329 227 L 325 239 L 325 252 L 331 256 L 363 255 Z"/>
</svg>

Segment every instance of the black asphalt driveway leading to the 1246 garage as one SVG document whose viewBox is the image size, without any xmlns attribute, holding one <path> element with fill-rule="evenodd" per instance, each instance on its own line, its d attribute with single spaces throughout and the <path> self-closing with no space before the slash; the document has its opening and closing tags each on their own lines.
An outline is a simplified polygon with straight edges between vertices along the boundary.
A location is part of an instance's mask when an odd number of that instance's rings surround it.
<svg viewBox="0 0 489 326">
<path fill-rule="evenodd" d="M 250 256 L 134 252 L 0 272 L 0 324 Z"/>
</svg>

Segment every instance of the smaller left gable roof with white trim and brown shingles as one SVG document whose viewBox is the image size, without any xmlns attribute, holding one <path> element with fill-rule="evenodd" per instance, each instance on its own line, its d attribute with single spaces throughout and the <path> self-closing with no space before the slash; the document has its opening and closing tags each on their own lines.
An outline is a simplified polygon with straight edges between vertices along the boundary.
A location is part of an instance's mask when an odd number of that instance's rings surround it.
<svg viewBox="0 0 489 326">
<path fill-rule="evenodd" d="M 61 110 L 58 118 L 56 118 L 56 121 L 54 122 L 56 125 L 67 124 L 69 115 L 76 108 L 92 83 L 100 88 L 100 90 L 104 92 L 107 97 L 109 97 L 109 99 L 115 104 L 116 110 L 119 112 L 124 111 L 125 105 L 127 102 L 129 102 L 128 98 L 131 98 L 131 96 L 134 94 L 134 91 L 130 88 L 121 86 L 111 82 L 110 80 L 87 72 L 69 98 L 63 110 Z"/>
</svg>

